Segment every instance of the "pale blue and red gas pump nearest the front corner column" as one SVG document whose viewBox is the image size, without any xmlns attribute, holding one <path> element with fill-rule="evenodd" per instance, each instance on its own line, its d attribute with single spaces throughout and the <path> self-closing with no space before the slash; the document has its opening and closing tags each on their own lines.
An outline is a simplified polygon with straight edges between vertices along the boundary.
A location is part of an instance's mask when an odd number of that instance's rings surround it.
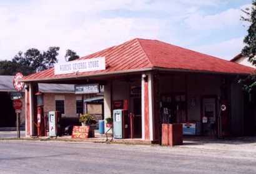
<svg viewBox="0 0 256 174">
<path fill-rule="evenodd" d="M 130 137 L 129 114 L 127 110 L 113 110 L 113 128 L 115 139 L 128 139 Z"/>
</svg>

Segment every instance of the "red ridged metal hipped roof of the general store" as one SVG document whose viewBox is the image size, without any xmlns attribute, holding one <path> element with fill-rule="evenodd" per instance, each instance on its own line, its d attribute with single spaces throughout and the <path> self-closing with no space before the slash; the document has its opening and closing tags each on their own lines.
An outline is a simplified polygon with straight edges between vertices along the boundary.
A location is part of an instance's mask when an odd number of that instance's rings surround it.
<svg viewBox="0 0 256 174">
<path fill-rule="evenodd" d="M 238 63 L 194 52 L 159 40 L 133 39 L 82 59 L 105 57 L 106 70 L 54 75 L 54 68 L 24 77 L 24 81 L 56 80 L 81 76 L 126 73 L 152 68 L 204 71 L 212 73 L 250 74 L 255 70 Z"/>
</svg>

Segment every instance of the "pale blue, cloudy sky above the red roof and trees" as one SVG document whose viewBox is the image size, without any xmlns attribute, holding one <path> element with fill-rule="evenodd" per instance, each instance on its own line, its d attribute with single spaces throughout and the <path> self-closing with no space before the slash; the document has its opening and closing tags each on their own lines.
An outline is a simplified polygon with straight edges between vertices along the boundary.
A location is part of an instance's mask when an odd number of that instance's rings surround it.
<svg viewBox="0 0 256 174">
<path fill-rule="evenodd" d="M 230 60 L 243 47 L 251 0 L 0 0 L 0 60 L 29 48 L 79 56 L 134 38 Z"/>
</svg>

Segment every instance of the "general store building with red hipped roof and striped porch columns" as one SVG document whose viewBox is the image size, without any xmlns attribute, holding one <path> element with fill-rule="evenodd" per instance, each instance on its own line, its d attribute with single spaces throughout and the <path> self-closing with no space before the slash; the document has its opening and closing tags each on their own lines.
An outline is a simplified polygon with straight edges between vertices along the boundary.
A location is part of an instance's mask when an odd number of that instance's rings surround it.
<svg viewBox="0 0 256 174">
<path fill-rule="evenodd" d="M 54 68 L 26 76 L 27 135 L 36 134 L 37 83 L 104 85 L 104 117 L 115 103 L 128 101 L 135 137 L 159 142 L 162 123 L 193 123 L 195 135 L 245 135 L 244 92 L 237 83 L 253 68 L 177 47 L 159 40 L 133 39 L 80 58 L 104 58 L 102 70 L 56 73 Z M 253 116 L 251 116 L 253 117 Z"/>
</svg>

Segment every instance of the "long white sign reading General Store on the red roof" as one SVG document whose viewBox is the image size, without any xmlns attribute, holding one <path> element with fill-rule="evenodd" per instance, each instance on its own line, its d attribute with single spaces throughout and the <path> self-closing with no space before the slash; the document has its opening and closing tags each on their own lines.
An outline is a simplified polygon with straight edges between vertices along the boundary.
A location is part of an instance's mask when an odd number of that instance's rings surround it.
<svg viewBox="0 0 256 174">
<path fill-rule="evenodd" d="M 106 70 L 105 57 L 89 58 L 86 60 L 75 60 L 65 63 L 56 63 L 54 65 L 55 75 L 98 70 Z"/>
</svg>

